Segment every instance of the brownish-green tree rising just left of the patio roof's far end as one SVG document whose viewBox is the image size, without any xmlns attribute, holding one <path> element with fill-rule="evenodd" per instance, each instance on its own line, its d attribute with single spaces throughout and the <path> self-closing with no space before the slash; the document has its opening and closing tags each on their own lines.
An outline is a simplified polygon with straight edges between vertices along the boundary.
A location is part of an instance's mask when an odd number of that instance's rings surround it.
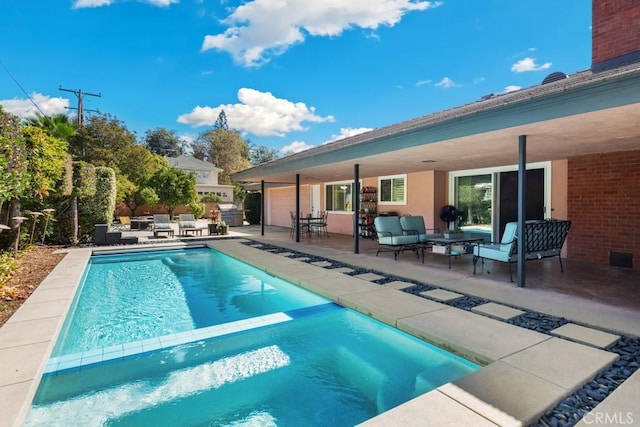
<svg viewBox="0 0 640 427">
<path fill-rule="evenodd" d="M 218 175 L 220 184 L 232 184 L 231 174 L 251 166 L 249 147 L 238 131 L 208 130 L 198 135 L 196 143 L 207 147 L 207 160 L 223 169 Z"/>
</svg>

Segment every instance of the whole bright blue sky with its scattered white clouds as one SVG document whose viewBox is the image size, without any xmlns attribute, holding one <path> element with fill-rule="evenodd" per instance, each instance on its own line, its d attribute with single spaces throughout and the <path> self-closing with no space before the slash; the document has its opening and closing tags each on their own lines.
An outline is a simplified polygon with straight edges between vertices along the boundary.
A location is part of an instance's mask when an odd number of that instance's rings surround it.
<svg viewBox="0 0 640 427">
<path fill-rule="evenodd" d="M 591 66 L 586 0 L 4 0 L 0 104 L 283 152 Z M 87 113 L 90 114 L 90 113 Z"/>
</svg>

